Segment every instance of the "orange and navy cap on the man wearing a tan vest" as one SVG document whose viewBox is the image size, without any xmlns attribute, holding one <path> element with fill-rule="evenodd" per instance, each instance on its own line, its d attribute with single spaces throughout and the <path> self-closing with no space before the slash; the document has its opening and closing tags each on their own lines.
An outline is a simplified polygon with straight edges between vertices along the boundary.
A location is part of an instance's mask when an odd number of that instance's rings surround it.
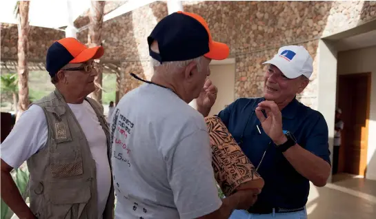
<svg viewBox="0 0 376 219">
<path fill-rule="evenodd" d="M 46 70 L 51 78 L 55 76 L 61 67 L 68 63 L 83 63 L 90 59 L 99 59 L 104 54 L 102 46 L 87 48 L 73 37 L 67 37 L 55 41 L 47 50 Z"/>
</svg>

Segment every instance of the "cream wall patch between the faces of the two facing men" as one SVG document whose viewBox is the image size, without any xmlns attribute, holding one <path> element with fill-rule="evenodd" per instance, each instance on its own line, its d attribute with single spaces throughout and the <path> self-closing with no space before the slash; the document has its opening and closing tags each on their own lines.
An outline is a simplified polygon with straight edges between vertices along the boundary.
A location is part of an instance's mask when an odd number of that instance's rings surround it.
<svg viewBox="0 0 376 219">
<path fill-rule="evenodd" d="M 235 101 L 235 63 L 226 65 L 210 65 L 209 79 L 218 88 L 217 101 L 212 106 L 209 115 L 218 114 Z"/>
</svg>

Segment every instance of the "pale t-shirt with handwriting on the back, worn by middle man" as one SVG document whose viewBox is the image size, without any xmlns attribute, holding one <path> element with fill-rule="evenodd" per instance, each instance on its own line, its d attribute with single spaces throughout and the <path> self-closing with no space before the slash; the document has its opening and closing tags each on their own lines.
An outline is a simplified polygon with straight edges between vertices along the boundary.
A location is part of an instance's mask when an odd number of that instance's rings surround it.
<svg viewBox="0 0 376 219">
<path fill-rule="evenodd" d="M 115 218 L 197 218 L 219 209 L 204 117 L 157 85 L 132 90 L 112 114 Z"/>
</svg>

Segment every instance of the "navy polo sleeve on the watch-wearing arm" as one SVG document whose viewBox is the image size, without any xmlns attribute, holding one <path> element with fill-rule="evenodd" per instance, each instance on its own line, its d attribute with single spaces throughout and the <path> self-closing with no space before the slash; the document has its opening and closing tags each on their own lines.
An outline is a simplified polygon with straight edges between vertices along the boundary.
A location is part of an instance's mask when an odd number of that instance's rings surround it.
<svg viewBox="0 0 376 219">
<path fill-rule="evenodd" d="M 313 126 L 311 132 L 308 134 L 306 147 L 304 148 L 330 164 L 328 142 L 328 125 L 326 124 L 324 116 L 319 114 L 317 122 Z"/>
</svg>

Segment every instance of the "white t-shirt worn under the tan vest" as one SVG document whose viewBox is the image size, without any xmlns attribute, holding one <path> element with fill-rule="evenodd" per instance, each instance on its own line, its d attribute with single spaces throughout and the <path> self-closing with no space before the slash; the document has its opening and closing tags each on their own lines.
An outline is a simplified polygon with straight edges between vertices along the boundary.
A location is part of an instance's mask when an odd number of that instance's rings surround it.
<svg viewBox="0 0 376 219">
<path fill-rule="evenodd" d="M 111 186 L 111 171 L 107 157 L 106 134 L 97 114 L 88 101 L 68 106 L 77 118 L 85 134 L 97 167 L 98 218 L 102 218 Z M 48 126 L 46 115 L 39 105 L 32 105 L 23 112 L 6 140 L 1 144 L 1 159 L 13 168 L 18 168 L 30 156 L 46 147 Z"/>
</svg>

